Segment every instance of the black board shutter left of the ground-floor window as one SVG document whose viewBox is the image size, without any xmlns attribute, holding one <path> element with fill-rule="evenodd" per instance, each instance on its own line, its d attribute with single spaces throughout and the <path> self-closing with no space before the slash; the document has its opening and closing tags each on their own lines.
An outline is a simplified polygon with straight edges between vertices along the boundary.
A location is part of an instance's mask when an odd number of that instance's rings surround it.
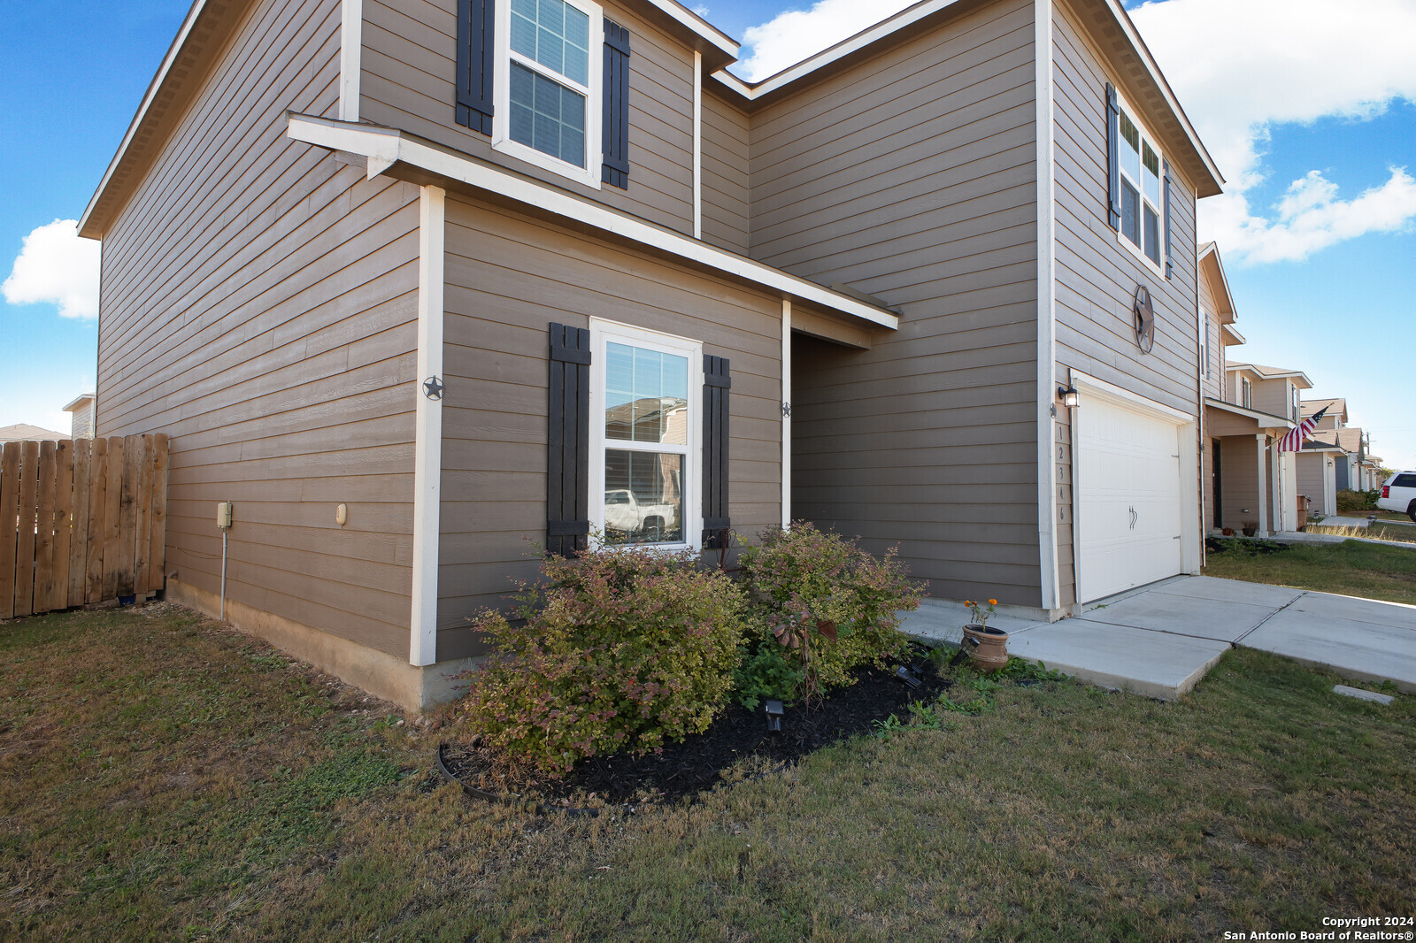
<svg viewBox="0 0 1416 943">
<path fill-rule="evenodd" d="M 545 552 L 573 556 L 590 532 L 590 331 L 551 324 Z"/>
</svg>

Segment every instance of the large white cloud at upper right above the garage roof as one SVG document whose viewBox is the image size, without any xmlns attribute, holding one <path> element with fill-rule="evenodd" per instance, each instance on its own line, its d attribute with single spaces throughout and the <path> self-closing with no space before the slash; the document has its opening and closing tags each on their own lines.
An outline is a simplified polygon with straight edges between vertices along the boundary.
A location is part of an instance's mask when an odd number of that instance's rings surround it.
<svg viewBox="0 0 1416 943">
<path fill-rule="evenodd" d="M 1413 181 L 1395 167 L 1355 200 L 1340 200 L 1318 171 L 1293 181 L 1272 212 L 1247 197 L 1266 178 L 1273 126 L 1365 120 L 1393 101 L 1416 102 L 1416 3 L 1161 0 L 1131 18 L 1228 178 L 1223 195 L 1199 204 L 1201 238 L 1218 239 L 1226 261 L 1304 259 L 1416 218 Z"/>
</svg>

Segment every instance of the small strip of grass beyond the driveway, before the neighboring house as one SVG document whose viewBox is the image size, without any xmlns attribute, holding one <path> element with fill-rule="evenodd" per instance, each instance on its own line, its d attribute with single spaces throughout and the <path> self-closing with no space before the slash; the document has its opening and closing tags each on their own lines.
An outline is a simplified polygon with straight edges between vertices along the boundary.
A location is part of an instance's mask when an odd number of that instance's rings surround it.
<svg viewBox="0 0 1416 943">
<path fill-rule="evenodd" d="M 1345 541 L 1250 555 L 1243 542 L 1208 554 L 1205 575 L 1416 605 L 1416 549 Z"/>
</svg>

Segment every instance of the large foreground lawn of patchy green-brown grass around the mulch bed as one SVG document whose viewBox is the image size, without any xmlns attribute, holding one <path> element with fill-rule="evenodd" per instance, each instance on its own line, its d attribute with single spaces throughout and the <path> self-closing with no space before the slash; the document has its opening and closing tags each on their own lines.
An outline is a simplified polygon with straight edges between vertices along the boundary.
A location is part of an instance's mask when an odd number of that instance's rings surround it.
<svg viewBox="0 0 1416 943">
<path fill-rule="evenodd" d="M 1177 704 L 956 685 L 986 697 L 939 729 L 538 818 L 426 776 L 456 728 L 181 610 L 17 620 L 0 937 L 1214 940 L 1412 915 L 1416 699 L 1337 681 L 1231 651 Z"/>
</svg>

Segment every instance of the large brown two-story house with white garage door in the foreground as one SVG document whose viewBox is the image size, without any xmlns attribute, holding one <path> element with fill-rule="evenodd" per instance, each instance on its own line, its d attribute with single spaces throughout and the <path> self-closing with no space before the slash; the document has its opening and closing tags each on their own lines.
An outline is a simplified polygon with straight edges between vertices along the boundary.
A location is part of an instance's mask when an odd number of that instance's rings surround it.
<svg viewBox="0 0 1416 943">
<path fill-rule="evenodd" d="M 231 619 L 416 705 L 626 491 L 677 521 L 619 539 L 809 518 L 1046 617 L 1197 572 L 1221 178 L 1120 4 L 736 55 L 671 0 L 198 1 L 81 221 L 171 598 L 234 501 Z"/>
</svg>

